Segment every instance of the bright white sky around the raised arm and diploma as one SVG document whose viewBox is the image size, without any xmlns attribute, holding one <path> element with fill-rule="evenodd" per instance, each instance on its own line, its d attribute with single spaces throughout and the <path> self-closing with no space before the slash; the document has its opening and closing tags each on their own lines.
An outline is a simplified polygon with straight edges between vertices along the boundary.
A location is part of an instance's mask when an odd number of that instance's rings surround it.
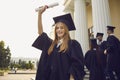
<svg viewBox="0 0 120 80">
<path fill-rule="evenodd" d="M 41 51 L 32 47 L 38 37 L 37 12 L 39 6 L 58 2 L 59 6 L 43 13 L 43 30 L 48 35 L 53 17 L 63 14 L 62 0 L 1 0 L 0 1 L 0 41 L 9 46 L 11 57 L 39 58 Z"/>
</svg>

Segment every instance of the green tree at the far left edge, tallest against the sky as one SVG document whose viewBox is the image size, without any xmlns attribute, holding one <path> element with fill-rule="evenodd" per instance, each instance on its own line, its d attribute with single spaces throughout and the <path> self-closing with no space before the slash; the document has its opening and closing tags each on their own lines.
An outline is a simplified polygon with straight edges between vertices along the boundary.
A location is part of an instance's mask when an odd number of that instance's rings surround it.
<svg viewBox="0 0 120 80">
<path fill-rule="evenodd" d="M 5 48 L 4 41 L 0 41 L 0 69 L 8 69 L 11 59 L 9 47 Z"/>
</svg>

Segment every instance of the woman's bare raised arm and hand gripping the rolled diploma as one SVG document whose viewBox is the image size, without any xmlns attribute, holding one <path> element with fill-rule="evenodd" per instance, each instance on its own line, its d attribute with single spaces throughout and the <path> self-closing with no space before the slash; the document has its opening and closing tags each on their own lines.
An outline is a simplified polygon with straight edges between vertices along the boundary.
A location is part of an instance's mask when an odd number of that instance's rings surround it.
<svg viewBox="0 0 120 80">
<path fill-rule="evenodd" d="M 41 10 L 38 12 L 38 34 L 41 35 L 43 33 L 43 25 L 42 25 L 42 13 L 48 8 L 48 6 L 43 6 Z"/>
</svg>

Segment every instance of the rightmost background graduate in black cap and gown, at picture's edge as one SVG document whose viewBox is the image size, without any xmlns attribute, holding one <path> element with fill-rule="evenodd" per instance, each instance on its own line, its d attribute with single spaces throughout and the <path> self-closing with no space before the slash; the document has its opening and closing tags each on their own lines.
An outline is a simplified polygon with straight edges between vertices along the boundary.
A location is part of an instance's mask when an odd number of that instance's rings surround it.
<svg viewBox="0 0 120 80">
<path fill-rule="evenodd" d="M 114 35 L 114 26 L 107 26 L 107 75 L 109 80 L 120 80 L 120 41 Z M 113 75 L 115 72 L 117 79 Z"/>
</svg>

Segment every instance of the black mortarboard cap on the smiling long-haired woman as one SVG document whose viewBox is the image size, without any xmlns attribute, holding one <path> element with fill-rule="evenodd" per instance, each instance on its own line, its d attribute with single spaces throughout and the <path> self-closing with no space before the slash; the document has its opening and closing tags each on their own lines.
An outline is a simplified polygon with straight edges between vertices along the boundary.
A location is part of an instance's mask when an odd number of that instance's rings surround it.
<svg viewBox="0 0 120 80">
<path fill-rule="evenodd" d="M 57 22 L 65 23 L 67 25 L 69 31 L 76 30 L 70 13 L 54 17 L 53 20 L 55 23 L 57 23 Z"/>
</svg>

